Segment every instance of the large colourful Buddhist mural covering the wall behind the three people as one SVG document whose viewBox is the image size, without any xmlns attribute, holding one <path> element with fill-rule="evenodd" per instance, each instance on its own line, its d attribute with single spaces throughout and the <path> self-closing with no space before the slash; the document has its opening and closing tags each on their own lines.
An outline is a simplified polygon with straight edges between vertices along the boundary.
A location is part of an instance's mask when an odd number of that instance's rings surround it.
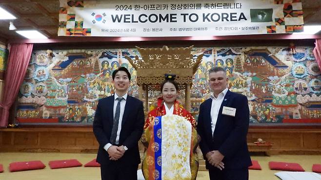
<svg viewBox="0 0 321 180">
<path fill-rule="evenodd" d="M 247 96 L 251 124 L 320 123 L 321 72 L 312 50 L 297 47 L 292 54 L 288 47 L 193 48 L 195 58 L 204 55 L 191 88 L 192 114 L 197 117 L 209 97 L 208 70 L 221 66 L 229 89 Z M 98 100 L 114 93 L 111 74 L 121 66 L 132 74 L 129 94 L 138 97 L 136 70 L 124 55 L 140 57 L 137 49 L 34 51 L 20 87 L 18 120 L 91 124 Z M 159 95 L 149 92 L 150 109 Z"/>
</svg>

